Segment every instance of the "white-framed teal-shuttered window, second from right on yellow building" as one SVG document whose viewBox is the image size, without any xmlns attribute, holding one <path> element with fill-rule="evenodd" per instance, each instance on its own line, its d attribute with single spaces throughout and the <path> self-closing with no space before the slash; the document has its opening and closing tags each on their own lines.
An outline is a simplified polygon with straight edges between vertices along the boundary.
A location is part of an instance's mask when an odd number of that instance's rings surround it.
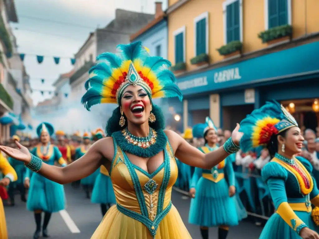
<svg viewBox="0 0 319 239">
<path fill-rule="evenodd" d="M 242 0 L 223 2 L 224 43 L 242 42 Z"/>
</svg>

